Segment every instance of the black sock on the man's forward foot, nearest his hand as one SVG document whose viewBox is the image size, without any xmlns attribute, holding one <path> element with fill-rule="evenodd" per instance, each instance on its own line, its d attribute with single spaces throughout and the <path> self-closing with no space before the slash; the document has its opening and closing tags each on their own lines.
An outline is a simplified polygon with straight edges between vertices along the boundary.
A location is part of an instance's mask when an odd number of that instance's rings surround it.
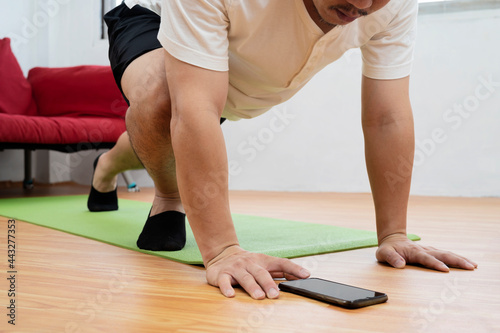
<svg viewBox="0 0 500 333">
<path fill-rule="evenodd" d="M 137 246 L 150 251 L 179 251 L 186 244 L 186 214 L 173 210 L 149 216 Z"/>
</svg>

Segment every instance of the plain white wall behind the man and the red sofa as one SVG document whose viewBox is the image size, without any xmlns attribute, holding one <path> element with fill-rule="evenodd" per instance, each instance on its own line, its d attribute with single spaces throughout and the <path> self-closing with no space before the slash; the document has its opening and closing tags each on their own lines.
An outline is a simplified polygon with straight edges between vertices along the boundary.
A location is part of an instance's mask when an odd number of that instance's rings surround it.
<svg viewBox="0 0 500 333">
<path fill-rule="evenodd" d="M 34 7 L 9 1 L 9 6 L 15 7 L 13 17 L 30 17 L 33 14 L 25 11 L 36 12 L 47 1 L 31 1 Z M 37 43 L 30 41 L 30 47 L 16 54 L 24 70 L 34 65 L 106 64 L 107 45 L 99 40 L 96 29 L 100 1 L 52 1 L 61 3 L 57 15 L 45 30 L 40 29 Z M 12 27 L 15 22 L 11 20 Z M 5 26 L 0 21 L 3 35 Z M 499 40 L 499 10 L 419 17 L 411 83 L 420 145 L 413 194 L 500 196 L 500 135 L 496 130 L 500 87 L 482 84 L 490 76 L 500 81 Z M 33 49 L 40 51 L 36 57 Z M 359 52 L 351 51 L 289 102 L 253 120 L 226 122 L 231 188 L 368 192 L 360 125 L 360 65 Z M 470 112 L 453 113 L 455 104 L 464 103 L 464 110 Z M 439 129 L 446 140 L 431 143 L 433 131 Z M 5 154 L 0 153 L 0 180 L 8 173 L 5 159 L 12 157 Z M 56 164 L 59 169 L 65 165 L 66 171 L 57 176 L 88 183 L 95 155 L 58 157 Z M 9 176 L 6 179 L 22 179 L 22 173 Z M 144 173 L 136 172 L 135 177 L 140 185 L 151 185 Z"/>
</svg>

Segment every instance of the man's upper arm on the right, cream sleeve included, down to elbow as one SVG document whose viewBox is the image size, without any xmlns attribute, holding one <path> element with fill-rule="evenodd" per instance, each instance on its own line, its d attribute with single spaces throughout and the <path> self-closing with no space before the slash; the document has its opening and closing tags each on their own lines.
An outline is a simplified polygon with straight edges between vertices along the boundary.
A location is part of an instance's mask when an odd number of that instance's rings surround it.
<svg viewBox="0 0 500 333">
<path fill-rule="evenodd" d="M 412 117 L 409 74 L 413 61 L 418 2 L 391 1 L 387 10 L 394 13 L 389 24 L 361 47 L 364 127 Z"/>
</svg>

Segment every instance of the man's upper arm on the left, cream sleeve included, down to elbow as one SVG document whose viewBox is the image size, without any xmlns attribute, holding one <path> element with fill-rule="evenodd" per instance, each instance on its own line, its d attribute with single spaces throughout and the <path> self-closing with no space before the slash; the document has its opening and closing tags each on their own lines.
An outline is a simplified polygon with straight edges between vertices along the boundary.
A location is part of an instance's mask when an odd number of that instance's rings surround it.
<svg viewBox="0 0 500 333">
<path fill-rule="evenodd" d="M 172 116 L 214 114 L 220 118 L 228 90 L 226 0 L 163 0 L 158 39 Z"/>
</svg>

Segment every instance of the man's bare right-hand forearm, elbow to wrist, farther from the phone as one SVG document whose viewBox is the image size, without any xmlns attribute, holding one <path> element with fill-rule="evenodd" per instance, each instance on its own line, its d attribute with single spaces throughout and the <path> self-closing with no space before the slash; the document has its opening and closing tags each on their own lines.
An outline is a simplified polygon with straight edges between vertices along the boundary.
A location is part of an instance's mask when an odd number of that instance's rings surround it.
<svg viewBox="0 0 500 333">
<path fill-rule="evenodd" d="M 363 132 L 380 243 L 388 235 L 406 234 L 415 145 L 411 110 L 386 124 L 364 124 Z"/>
</svg>

